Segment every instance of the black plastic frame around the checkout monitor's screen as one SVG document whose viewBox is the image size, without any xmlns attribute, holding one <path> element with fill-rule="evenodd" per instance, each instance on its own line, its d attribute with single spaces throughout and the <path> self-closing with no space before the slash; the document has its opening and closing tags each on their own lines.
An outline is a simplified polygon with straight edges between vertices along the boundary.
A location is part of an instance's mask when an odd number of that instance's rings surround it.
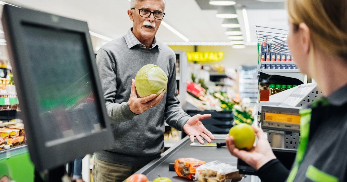
<svg viewBox="0 0 347 182">
<path fill-rule="evenodd" d="M 70 140 L 61 144 L 47 147 L 43 139 L 43 131 L 40 130 L 39 110 L 33 93 L 32 80 L 28 68 L 29 56 L 25 49 L 23 24 L 34 26 L 52 27 L 65 31 L 82 33 L 85 35 L 88 57 L 91 61 L 91 78 L 94 79 L 93 91 L 96 106 L 100 107 L 100 122 L 104 128 L 88 136 Z M 110 148 L 113 141 L 109 116 L 106 107 L 96 67 L 94 51 L 88 25 L 85 21 L 70 19 L 58 15 L 52 15 L 41 11 L 17 8 L 5 5 L 3 8 L 2 24 L 7 41 L 12 71 L 16 82 L 17 94 L 20 103 L 20 112 L 25 125 L 29 153 L 35 168 L 38 170 L 52 169 L 58 165 L 64 165 L 75 158 L 83 157 L 94 151 Z M 35 106 L 36 105 L 36 106 Z M 49 132 L 49 131 L 48 131 Z"/>
</svg>

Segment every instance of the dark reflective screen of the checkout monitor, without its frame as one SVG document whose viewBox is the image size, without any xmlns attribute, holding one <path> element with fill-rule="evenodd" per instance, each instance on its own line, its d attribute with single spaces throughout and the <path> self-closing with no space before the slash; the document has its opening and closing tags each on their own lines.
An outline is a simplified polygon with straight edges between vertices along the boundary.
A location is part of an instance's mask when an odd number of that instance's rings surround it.
<svg viewBox="0 0 347 182">
<path fill-rule="evenodd" d="M 23 32 L 40 124 L 52 131 L 45 132 L 45 145 L 100 130 L 85 36 L 26 24 Z"/>
</svg>

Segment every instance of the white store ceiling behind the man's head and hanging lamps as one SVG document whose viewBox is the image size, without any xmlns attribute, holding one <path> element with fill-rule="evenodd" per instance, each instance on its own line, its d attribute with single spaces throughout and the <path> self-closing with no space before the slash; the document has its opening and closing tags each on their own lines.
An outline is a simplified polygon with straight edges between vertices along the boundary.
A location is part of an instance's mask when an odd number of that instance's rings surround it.
<svg viewBox="0 0 347 182">
<path fill-rule="evenodd" d="M 52 14 L 88 22 L 91 31 L 118 38 L 132 27 L 127 10 L 128 0 L 5 0 L 17 6 L 29 7 Z M 216 18 L 217 10 L 201 10 L 195 0 L 166 0 L 164 21 L 186 36 L 190 42 L 227 42 L 222 19 Z M 237 11 L 239 23 L 245 35 L 242 11 Z M 251 42 L 256 42 L 255 25 L 287 29 L 287 13 L 284 9 L 247 11 Z M 164 26 L 156 35 L 161 42 L 184 42 Z"/>
</svg>

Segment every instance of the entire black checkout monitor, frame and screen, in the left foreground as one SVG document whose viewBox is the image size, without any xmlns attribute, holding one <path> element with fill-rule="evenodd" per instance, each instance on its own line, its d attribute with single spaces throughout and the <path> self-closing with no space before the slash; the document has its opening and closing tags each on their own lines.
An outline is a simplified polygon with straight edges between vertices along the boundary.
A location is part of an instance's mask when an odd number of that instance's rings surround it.
<svg viewBox="0 0 347 182">
<path fill-rule="evenodd" d="M 108 148 L 113 136 L 87 23 L 9 5 L 2 22 L 35 167 Z"/>
</svg>

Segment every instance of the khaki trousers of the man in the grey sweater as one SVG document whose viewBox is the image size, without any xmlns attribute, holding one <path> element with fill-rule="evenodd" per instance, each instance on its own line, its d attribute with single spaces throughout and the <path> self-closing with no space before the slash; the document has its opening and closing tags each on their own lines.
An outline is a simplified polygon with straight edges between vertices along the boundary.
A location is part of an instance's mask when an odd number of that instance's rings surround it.
<svg viewBox="0 0 347 182">
<path fill-rule="evenodd" d="M 94 182 L 122 182 L 134 174 L 141 167 L 125 166 L 120 164 L 100 161 L 94 158 L 92 170 Z"/>
</svg>

